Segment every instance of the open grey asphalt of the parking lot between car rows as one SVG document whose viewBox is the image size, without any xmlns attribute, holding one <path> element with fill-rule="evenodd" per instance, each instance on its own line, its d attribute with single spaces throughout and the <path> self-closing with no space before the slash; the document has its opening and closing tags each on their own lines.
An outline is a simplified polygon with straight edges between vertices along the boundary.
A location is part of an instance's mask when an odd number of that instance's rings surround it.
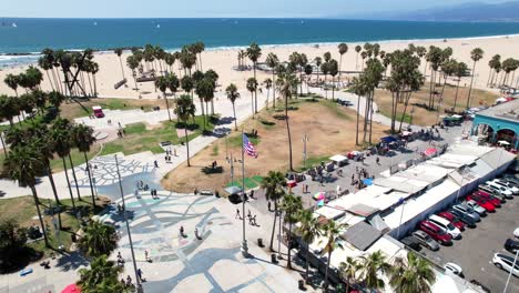
<svg viewBox="0 0 519 293">
<path fill-rule="evenodd" d="M 464 270 L 465 279 L 477 280 L 491 292 L 502 292 L 508 279 L 508 272 L 499 270 L 491 262 L 495 253 L 506 253 L 503 244 L 508 238 L 513 238 L 513 230 L 519 226 L 519 196 L 507 200 L 495 213 L 481 218 L 477 228 L 462 232 L 462 239 L 454 240 L 451 246 L 440 245 L 432 252 L 421 249 L 421 253 L 439 265 L 454 262 Z M 507 292 L 519 292 L 519 277 L 510 279 Z"/>
</svg>

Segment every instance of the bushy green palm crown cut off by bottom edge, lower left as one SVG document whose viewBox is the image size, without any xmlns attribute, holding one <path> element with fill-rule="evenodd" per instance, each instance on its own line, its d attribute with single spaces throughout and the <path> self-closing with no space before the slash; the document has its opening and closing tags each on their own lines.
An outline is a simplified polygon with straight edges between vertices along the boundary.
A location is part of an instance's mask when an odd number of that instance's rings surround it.
<svg viewBox="0 0 519 293">
<path fill-rule="evenodd" d="M 106 255 L 95 257 L 90 263 L 90 269 L 81 269 L 78 286 L 81 292 L 128 292 L 124 285 L 119 282 L 119 274 L 123 271 L 122 266 L 115 265 L 109 261 Z M 106 290 L 110 287 L 109 290 Z"/>
</svg>

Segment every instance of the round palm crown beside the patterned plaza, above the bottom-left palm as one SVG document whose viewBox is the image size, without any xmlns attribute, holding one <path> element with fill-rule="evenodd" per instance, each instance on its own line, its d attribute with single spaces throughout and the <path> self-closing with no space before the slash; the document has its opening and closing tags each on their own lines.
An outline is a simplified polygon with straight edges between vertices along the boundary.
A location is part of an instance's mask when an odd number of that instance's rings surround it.
<svg viewBox="0 0 519 293">
<path fill-rule="evenodd" d="M 80 250 L 91 256 L 110 255 L 118 247 L 118 233 L 112 225 L 100 221 L 90 221 L 83 228 L 83 235 L 78 242 Z"/>
</svg>

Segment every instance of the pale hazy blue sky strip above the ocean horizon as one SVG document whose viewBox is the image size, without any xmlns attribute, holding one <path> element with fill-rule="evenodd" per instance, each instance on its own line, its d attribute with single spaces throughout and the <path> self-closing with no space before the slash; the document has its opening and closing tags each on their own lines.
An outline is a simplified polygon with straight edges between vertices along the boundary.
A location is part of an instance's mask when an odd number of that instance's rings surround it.
<svg viewBox="0 0 519 293">
<path fill-rule="evenodd" d="M 318 18 L 406 11 L 475 1 L 477 0 L 2 0 L 0 17 Z"/>
</svg>

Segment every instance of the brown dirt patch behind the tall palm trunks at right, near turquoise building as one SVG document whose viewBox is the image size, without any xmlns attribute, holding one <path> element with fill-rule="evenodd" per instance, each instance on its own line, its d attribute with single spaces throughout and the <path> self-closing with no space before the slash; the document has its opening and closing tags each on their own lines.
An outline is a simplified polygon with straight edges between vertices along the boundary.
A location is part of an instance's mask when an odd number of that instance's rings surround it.
<svg viewBox="0 0 519 293">
<path fill-rule="evenodd" d="M 438 92 L 441 91 L 441 87 L 437 87 L 436 90 Z M 468 87 L 461 87 L 459 88 L 458 91 L 458 100 L 456 103 L 456 111 L 461 111 L 466 109 L 467 105 L 467 97 L 468 97 Z M 425 85 L 421 87 L 421 90 L 418 92 L 413 93 L 409 104 L 407 105 L 406 110 L 406 120 L 405 122 L 410 121 L 410 111 L 414 109 L 413 113 L 413 124 L 415 125 L 423 125 L 423 127 L 428 127 L 437 122 L 439 119 L 439 115 L 445 114 L 445 109 L 451 109 L 455 104 L 455 97 L 456 97 L 456 85 L 452 84 L 447 84 L 445 87 L 445 92 L 444 92 L 444 98 L 442 98 L 442 104 L 439 108 L 439 113 L 437 111 L 428 111 L 424 107 L 420 107 L 421 104 L 428 104 L 429 101 L 429 83 L 426 83 Z M 470 107 L 479 107 L 479 105 L 491 105 L 498 98 L 496 93 L 484 91 L 484 90 L 478 90 L 478 89 L 472 89 L 471 93 L 471 99 L 470 99 Z M 435 100 L 435 104 L 437 104 Z M 375 102 L 379 107 L 380 113 L 390 117 L 391 112 L 391 92 L 386 91 L 386 90 L 377 90 L 375 93 Z M 413 107 L 413 104 L 416 104 Z M 435 105 L 436 107 L 436 105 Z M 398 110 L 397 110 L 397 117 L 398 121 L 401 118 L 401 113 L 404 113 L 404 103 L 398 104 Z"/>
</svg>

